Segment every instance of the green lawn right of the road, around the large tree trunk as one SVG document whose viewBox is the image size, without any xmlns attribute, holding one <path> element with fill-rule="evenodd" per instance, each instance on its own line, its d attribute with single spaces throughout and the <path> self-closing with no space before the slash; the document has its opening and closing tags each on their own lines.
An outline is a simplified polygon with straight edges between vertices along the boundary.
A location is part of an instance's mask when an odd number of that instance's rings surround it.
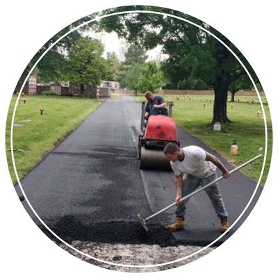
<svg viewBox="0 0 278 278">
<path fill-rule="evenodd" d="M 236 97 L 236 102 L 227 103 L 228 124 L 222 124 L 221 131 L 213 131 L 213 96 L 163 96 L 166 101 L 173 101 L 173 117 L 178 126 L 199 138 L 218 154 L 227 158 L 232 165 L 240 165 L 259 154 L 259 148 L 265 149 L 265 127 L 262 119 L 261 106 L 257 97 Z M 145 97 L 136 97 L 139 101 Z M 238 102 L 238 99 L 240 102 Z M 253 103 L 252 103 L 253 102 Z M 250 104 L 251 103 L 251 104 Z M 272 125 L 270 111 L 266 99 L 263 107 L 267 118 L 268 155 L 261 183 L 264 184 L 270 167 L 272 151 Z M 260 111 L 259 118 L 257 112 Z M 232 140 L 238 140 L 238 156 L 229 154 Z M 263 159 L 259 159 L 242 169 L 248 177 L 258 180 L 261 174 Z"/>
</svg>

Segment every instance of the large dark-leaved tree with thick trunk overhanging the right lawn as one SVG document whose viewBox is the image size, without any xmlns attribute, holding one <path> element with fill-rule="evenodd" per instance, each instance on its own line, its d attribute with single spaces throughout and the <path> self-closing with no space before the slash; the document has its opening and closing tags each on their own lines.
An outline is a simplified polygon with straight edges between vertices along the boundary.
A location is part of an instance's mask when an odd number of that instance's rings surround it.
<svg viewBox="0 0 278 278">
<path fill-rule="evenodd" d="M 120 37 L 129 42 L 137 43 L 146 49 L 153 49 L 158 44 L 163 46 L 163 53 L 169 58 L 163 69 L 167 71 L 167 79 L 178 84 L 180 81 L 194 76 L 213 88 L 215 93 L 213 106 L 214 122 L 229 122 L 227 117 L 227 95 L 231 83 L 245 75 L 245 70 L 238 60 L 220 41 L 217 35 L 232 49 L 248 70 L 251 70 L 247 60 L 240 54 L 227 38 L 204 22 L 175 10 L 149 6 L 129 6 L 106 10 L 104 13 L 115 13 L 124 10 L 149 10 L 167 13 L 190 20 L 202 28 L 188 22 L 183 22 L 172 16 L 129 13 L 106 17 L 101 22 L 101 28 L 106 31 L 116 31 Z M 206 31 L 204 31 L 206 30 Z M 253 78 L 256 77 L 252 72 Z"/>
</svg>

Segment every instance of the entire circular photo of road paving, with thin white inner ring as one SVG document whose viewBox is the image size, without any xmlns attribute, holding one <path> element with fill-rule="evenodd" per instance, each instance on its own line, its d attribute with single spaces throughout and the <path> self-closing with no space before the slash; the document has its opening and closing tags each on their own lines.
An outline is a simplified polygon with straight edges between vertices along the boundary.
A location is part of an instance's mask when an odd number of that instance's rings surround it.
<svg viewBox="0 0 278 278">
<path fill-rule="evenodd" d="M 7 121 L 15 189 L 33 221 L 101 268 L 153 272 L 215 250 L 270 167 L 272 122 L 243 54 L 177 10 L 123 6 L 54 35 Z"/>
</svg>

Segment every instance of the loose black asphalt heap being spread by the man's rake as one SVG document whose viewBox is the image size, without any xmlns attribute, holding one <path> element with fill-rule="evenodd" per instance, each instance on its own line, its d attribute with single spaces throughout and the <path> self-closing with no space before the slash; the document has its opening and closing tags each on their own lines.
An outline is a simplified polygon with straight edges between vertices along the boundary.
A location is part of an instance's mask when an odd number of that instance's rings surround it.
<svg viewBox="0 0 278 278">
<path fill-rule="evenodd" d="M 51 231 L 65 242 L 74 240 L 90 241 L 95 243 L 123 243 L 176 246 L 177 240 L 172 233 L 160 224 L 148 224 L 149 231 L 143 229 L 140 222 L 101 222 L 83 224 L 72 216 L 66 216 L 49 225 Z M 46 229 L 41 228 L 46 234 Z M 54 240 L 54 236 L 51 236 Z"/>
</svg>

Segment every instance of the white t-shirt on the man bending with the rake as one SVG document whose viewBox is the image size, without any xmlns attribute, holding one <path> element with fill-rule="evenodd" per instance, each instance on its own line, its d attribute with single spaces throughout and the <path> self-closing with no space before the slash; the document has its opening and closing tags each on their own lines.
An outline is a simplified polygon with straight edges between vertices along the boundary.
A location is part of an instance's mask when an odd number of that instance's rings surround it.
<svg viewBox="0 0 278 278">
<path fill-rule="evenodd" d="M 183 161 L 170 162 L 176 176 L 191 174 L 194 177 L 209 177 L 214 174 L 216 166 L 211 161 L 205 161 L 206 152 L 201 147 L 188 146 L 181 149 Z"/>
</svg>

